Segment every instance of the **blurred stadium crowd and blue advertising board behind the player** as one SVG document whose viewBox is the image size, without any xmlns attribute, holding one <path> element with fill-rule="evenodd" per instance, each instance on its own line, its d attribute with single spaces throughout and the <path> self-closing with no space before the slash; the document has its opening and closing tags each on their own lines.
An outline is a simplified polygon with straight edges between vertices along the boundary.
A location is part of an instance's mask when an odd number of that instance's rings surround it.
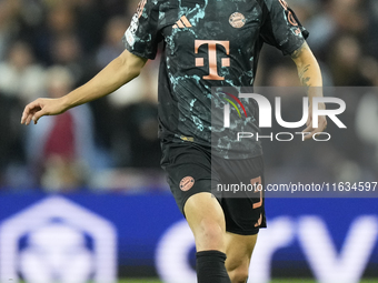
<svg viewBox="0 0 378 283">
<path fill-rule="evenodd" d="M 348 129 L 330 123 L 321 144 L 266 141 L 267 182 L 377 181 L 378 1 L 287 1 Z M 159 58 L 105 99 L 20 125 L 28 102 L 66 94 L 122 52 L 137 3 L 0 0 L 1 283 L 196 282 L 193 239 L 159 168 Z M 299 81 L 266 47 L 256 84 Z M 284 117 L 301 117 L 296 103 L 282 99 Z M 378 282 L 377 200 L 269 199 L 248 282 Z"/>
</svg>

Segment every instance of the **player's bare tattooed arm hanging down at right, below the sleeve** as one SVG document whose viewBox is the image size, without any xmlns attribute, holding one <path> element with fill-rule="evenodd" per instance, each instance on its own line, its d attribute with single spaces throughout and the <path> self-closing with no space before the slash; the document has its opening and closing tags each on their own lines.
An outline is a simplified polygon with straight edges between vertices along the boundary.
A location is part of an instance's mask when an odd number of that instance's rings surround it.
<svg viewBox="0 0 378 283">
<path fill-rule="evenodd" d="M 307 42 L 291 53 L 291 59 L 297 65 L 298 75 L 304 87 L 308 89 L 309 111 L 307 119 L 307 128 L 302 132 L 309 132 L 305 140 L 311 139 L 314 134 L 322 132 L 327 127 L 326 117 L 319 117 L 318 127 L 312 127 L 312 99 L 322 97 L 322 79 L 318 61 L 312 54 Z M 319 103 L 318 109 L 326 109 L 324 103 Z"/>
</svg>

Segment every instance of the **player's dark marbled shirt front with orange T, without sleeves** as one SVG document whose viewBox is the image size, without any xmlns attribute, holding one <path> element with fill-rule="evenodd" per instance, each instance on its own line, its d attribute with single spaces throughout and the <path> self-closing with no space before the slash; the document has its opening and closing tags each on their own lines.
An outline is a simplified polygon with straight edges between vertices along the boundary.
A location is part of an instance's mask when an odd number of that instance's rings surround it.
<svg viewBox="0 0 378 283">
<path fill-rule="evenodd" d="M 176 139 L 212 145 L 213 113 L 221 111 L 225 102 L 213 95 L 213 90 L 252 84 L 261 22 L 257 0 L 161 2 L 159 32 L 165 41 L 159 79 L 161 137 L 170 132 Z M 255 104 L 246 104 L 246 109 L 255 113 Z M 241 122 L 249 124 L 248 131 L 256 131 L 252 119 Z M 221 143 L 215 146 L 230 156 L 235 145 L 230 145 L 229 139 L 217 140 Z M 252 152 L 250 148 L 236 150 L 249 155 Z"/>
</svg>

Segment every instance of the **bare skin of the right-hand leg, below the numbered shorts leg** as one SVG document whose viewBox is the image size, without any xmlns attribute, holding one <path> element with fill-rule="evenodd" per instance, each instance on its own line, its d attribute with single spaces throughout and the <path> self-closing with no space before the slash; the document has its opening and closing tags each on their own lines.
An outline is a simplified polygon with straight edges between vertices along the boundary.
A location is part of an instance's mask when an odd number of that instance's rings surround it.
<svg viewBox="0 0 378 283">
<path fill-rule="evenodd" d="M 250 259 L 257 241 L 255 235 L 238 235 L 227 232 L 226 235 L 226 269 L 232 283 L 246 283 Z"/>
</svg>

